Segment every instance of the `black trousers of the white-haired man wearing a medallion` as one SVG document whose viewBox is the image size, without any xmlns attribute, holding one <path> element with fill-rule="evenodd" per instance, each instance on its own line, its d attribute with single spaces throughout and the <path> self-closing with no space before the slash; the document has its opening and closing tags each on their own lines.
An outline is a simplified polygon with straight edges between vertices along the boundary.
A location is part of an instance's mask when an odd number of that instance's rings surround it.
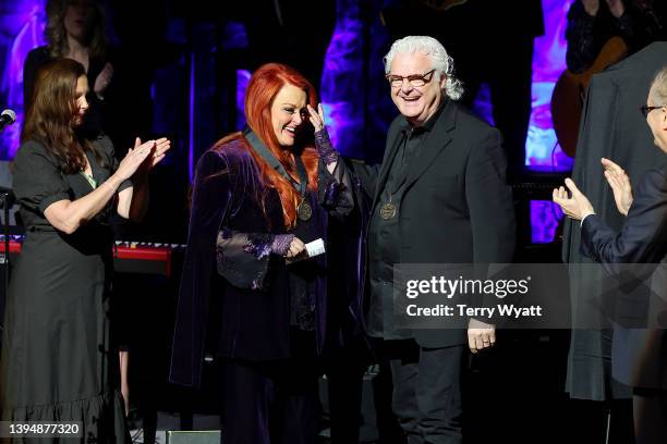
<svg viewBox="0 0 667 444">
<path fill-rule="evenodd" d="M 392 408 L 409 444 L 461 444 L 461 369 L 465 347 L 399 341 L 390 359 Z"/>
</svg>

